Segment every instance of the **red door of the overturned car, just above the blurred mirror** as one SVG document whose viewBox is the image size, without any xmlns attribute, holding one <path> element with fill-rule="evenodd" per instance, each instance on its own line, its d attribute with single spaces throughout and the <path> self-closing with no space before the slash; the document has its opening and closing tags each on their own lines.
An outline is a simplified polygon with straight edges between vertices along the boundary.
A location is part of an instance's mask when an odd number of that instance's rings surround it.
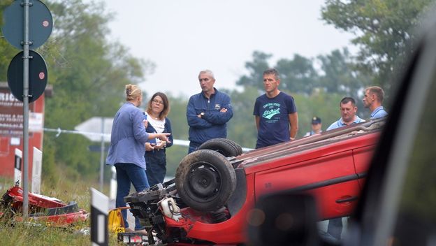
<svg viewBox="0 0 436 246">
<path fill-rule="evenodd" d="M 299 159 L 296 156 L 271 160 L 270 166 L 279 167 L 256 173 L 256 200 L 274 191 L 307 191 L 317 198 L 321 219 L 349 215 L 361 190 L 352 150 L 317 158 L 306 154 L 306 158 L 298 163 L 291 161 Z M 286 165 L 279 165 L 280 162 Z"/>
</svg>

